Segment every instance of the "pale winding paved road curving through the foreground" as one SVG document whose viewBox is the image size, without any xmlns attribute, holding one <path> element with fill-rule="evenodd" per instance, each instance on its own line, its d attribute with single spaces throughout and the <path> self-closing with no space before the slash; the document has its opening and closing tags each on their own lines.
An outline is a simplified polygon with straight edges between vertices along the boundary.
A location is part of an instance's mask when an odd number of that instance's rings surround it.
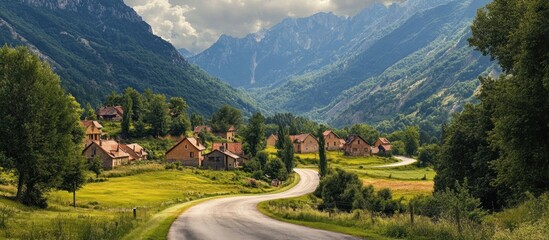
<svg viewBox="0 0 549 240">
<path fill-rule="evenodd" d="M 318 186 L 316 171 L 295 171 L 300 175 L 301 181 L 288 191 L 214 199 L 188 209 L 172 224 L 168 239 L 357 239 L 273 220 L 257 210 L 259 202 L 301 196 L 315 190 Z"/>
</svg>

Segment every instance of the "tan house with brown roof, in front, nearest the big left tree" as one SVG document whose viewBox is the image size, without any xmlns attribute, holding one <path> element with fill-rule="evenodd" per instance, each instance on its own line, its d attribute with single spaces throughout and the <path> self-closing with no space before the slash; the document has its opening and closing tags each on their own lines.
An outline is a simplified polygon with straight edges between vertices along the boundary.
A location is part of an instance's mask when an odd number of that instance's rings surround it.
<svg viewBox="0 0 549 240">
<path fill-rule="evenodd" d="M 88 160 L 101 159 L 104 169 L 113 169 L 130 161 L 130 155 L 122 149 L 121 144 L 114 140 L 93 141 L 84 148 L 82 155 Z"/>
</svg>

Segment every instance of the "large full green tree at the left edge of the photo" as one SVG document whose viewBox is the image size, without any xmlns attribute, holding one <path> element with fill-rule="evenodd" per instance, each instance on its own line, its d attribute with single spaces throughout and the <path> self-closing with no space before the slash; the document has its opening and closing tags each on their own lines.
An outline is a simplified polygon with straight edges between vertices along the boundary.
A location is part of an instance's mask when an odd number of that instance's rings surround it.
<svg viewBox="0 0 549 240">
<path fill-rule="evenodd" d="M 15 170 L 16 198 L 26 205 L 46 207 L 44 193 L 59 186 L 82 151 L 81 109 L 60 83 L 27 48 L 0 49 L 2 167 Z"/>
</svg>

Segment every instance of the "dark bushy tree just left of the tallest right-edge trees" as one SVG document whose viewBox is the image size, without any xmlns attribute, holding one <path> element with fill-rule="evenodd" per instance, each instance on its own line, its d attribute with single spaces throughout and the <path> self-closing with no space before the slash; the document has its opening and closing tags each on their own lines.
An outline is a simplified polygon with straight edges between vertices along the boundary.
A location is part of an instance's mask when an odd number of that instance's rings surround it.
<svg viewBox="0 0 549 240">
<path fill-rule="evenodd" d="M 484 207 L 500 206 L 500 194 L 492 186 L 496 172 L 490 165 L 499 154 L 488 141 L 488 132 L 493 128 L 490 115 L 483 105 L 466 105 L 444 129 L 445 137 L 435 164 L 435 192 L 455 190 L 456 182 L 468 179 L 471 194 L 480 198 Z"/>
</svg>

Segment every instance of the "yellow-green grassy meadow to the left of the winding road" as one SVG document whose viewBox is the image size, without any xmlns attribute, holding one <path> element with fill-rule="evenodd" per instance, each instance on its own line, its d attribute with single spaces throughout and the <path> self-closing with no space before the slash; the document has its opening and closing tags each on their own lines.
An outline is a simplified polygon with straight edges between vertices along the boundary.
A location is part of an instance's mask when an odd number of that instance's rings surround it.
<svg viewBox="0 0 549 240">
<path fill-rule="evenodd" d="M 49 193 L 46 209 L 26 207 L 12 200 L 15 186 L 0 185 L 0 239 L 120 239 L 179 203 L 278 189 L 266 183 L 252 187 L 249 174 L 239 171 L 184 168 L 128 172 L 132 175 L 86 184 L 76 192 L 77 208 L 71 207 L 72 194 L 65 191 Z"/>
</svg>

